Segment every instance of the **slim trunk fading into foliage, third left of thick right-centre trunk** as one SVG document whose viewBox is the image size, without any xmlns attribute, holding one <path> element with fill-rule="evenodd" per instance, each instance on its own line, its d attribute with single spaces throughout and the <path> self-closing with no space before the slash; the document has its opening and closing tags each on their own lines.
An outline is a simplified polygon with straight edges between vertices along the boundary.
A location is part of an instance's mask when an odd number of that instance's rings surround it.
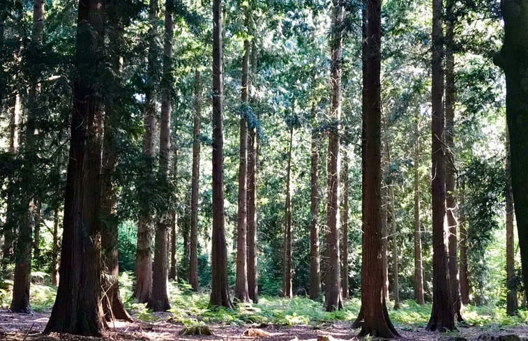
<svg viewBox="0 0 528 341">
<path fill-rule="evenodd" d="M 312 104 L 312 121 L 317 122 L 317 106 Z M 321 137 L 317 128 L 312 128 L 310 156 L 310 298 L 315 300 L 321 293 L 321 262 L 319 255 L 319 145 Z"/>
</svg>

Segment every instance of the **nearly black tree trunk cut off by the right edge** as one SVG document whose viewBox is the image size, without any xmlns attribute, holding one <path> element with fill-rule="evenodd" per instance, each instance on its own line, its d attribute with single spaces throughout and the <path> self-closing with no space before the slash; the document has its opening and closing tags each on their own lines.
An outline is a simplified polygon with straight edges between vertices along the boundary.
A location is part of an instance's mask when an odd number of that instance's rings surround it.
<svg viewBox="0 0 528 341">
<path fill-rule="evenodd" d="M 506 121 L 510 133 L 511 185 L 519 248 L 522 264 L 522 276 L 525 283 L 525 296 L 528 294 L 528 181 L 526 162 L 528 155 L 528 23 L 527 0 L 501 0 L 501 12 L 504 17 L 504 45 L 495 55 L 495 63 L 506 74 Z"/>
</svg>

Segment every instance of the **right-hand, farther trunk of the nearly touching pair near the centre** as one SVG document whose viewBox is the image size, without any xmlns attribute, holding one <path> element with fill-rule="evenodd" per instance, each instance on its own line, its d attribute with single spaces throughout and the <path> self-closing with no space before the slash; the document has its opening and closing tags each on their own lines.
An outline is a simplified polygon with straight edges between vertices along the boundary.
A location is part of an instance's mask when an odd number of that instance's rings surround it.
<svg viewBox="0 0 528 341">
<path fill-rule="evenodd" d="M 255 40 L 251 49 L 251 75 L 255 79 L 257 74 L 257 46 Z M 250 82 L 252 83 L 252 82 Z M 252 93 L 251 104 L 254 104 Z M 256 121 L 256 117 L 253 117 Z M 259 287 L 257 281 L 257 169 L 258 169 L 258 135 L 256 122 L 249 124 L 248 137 L 248 291 L 253 303 L 259 301 Z"/>
</svg>

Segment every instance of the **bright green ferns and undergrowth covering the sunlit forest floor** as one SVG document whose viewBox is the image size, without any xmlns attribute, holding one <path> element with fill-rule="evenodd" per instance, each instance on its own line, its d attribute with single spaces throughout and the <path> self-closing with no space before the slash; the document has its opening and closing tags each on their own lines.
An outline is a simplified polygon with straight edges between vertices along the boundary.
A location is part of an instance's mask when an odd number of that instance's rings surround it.
<svg viewBox="0 0 528 341">
<path fill-rule="evenodd" d="M 133 276 L 122 273 L 120 292 L 125 307 L 137 319 L 158 321 L 167 319 L 167 315 L 153 314 L 144 303 L 135 303 L 132 296 Z M 31 308 L 36 312 L 49 312 L 56 296 L 56 287 L 50 285 L 31 285 Z M 308 298 L 292 299 L 276 296 L 261 296 L 259 303 L 239 303 L 236 309 L 211 308 L 208 293 L 196 293 L 189 285 L 169 282 L 169 300 L 172 313 L 171 321 L 185 326 L 203 324 L 276 324 L 283 326 L 310 325 L 324 328 L 333 321 L 353 321 L 361 305 L 359 298 L 345 301 L 342 310 L 326 312 L 321 302 Z M 0 308 L 7 309 L 11 301 L 11 292 L 0 289 Z M 414 301 L 403 301 L 399 310 L 393 310 L 388 304 L 389 315 L 398 328 L 413 330 L 427 325 L 431 305 L 418 305 Z M 519 315 L 508 316 L 504 307 L 486 305 L 465 306 L 464 325 L 479 328 L 502 328 L 505 326 L 528 326 L 528 310 L 520 310 Z"/>
</svg>

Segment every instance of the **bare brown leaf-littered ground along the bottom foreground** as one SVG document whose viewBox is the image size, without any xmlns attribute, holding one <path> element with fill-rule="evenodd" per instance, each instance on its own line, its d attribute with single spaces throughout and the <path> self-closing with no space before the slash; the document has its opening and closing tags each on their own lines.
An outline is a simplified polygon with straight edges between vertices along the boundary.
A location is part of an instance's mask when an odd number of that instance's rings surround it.
<svg viewBox="0 0 528 341">
<path fill-rule="evenodd" d="M 268 338 L 248 338 L 242 336 L 243 331 L 248 326 L 232 326 L 217 324 L 211 326 L 213 336 L 181 336 L 179 335 L 183 326 L 174 324 L 167 320 L 159 322 L 116 322 L 111 325 L 110 331 L 107 332 L 106 338 L 87 338 L 73 335 L 64 335 L 52 333 L 51 335 L 42 335 L 47 320 L 50 317 L 46 313 L 35 313 L 33 315 L 13 314 L 0 311 L 0 340 L 13 341 L 96 341 L 96 340 L 116 340 L 116 341 L 244 341 L 244 340 L 265 340 L 265 341 L 297 341 L 310 340 L 316 341 L 318 335 L 330 335 L 335 340 L 357 340 L 358 330 L 351 329 L 350 322 L 338 321 L 333 324 L 325 324 L 319 329 L 311 326 L 266 326 L 265 331 L 270 333 Z M 424 331 L 423 328 L 398 328 L 402 335 L 401 340 L 412 341 L 433 341 L 442 338 L 438 333 Z M 460 335 L 465 336 L 470 341 L 476 341 L 478 335 L 483 333 L 493 333 L 494 335 L 515 333 L 522 338 L 528 337 L 528 326 L 515 328 L 500 328 L 494 331 L 477 327 L 461 327 Z"/>
</svg>

